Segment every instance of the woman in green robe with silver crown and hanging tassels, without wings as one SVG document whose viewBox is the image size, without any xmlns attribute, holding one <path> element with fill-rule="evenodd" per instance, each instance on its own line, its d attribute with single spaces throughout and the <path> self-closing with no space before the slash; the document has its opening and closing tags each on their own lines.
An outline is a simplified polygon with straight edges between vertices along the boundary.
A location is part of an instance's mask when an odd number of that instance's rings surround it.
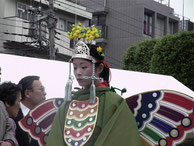
<svg viewBox="0 0 194 146">
<path fill-rule="evenodd" d="M 102 48 L 79 41 L 71 62 L 82 88 L 70 91 L 70 75 L 65 102 L 55 115 L 46 145 L 140 146 L 132 112 L 109 87 L 110 66 Z"/>
</svg>

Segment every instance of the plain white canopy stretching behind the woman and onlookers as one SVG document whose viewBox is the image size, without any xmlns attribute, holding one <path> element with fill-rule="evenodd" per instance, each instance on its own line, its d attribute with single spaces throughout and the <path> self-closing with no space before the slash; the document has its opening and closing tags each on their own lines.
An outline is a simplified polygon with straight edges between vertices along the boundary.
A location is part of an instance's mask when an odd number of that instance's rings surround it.
<svg viewBox="0 0 194 146">
<path fill-rule="evenodd" d="M 0 67 L 1 82 L 12 81 L 18 83 L 24 76 L 38 75 L 46 87 L 47 99 L 64 97 L 65 84 L 69 74 L 68 63 L 0 54 Z M 124 98 L 146 91 L 161 89 L 174 90 L 194 97 L 192 90 L 172 76 L 118 69 L 111 69 L 111 74 L 111 86 L 127 89 L 127 92 L 123 94 Z M 76 80 L 74 80 L 73 86 L 79 87 Z M 118 93 L 120 94 L 120 92 Z"/>
</svg>

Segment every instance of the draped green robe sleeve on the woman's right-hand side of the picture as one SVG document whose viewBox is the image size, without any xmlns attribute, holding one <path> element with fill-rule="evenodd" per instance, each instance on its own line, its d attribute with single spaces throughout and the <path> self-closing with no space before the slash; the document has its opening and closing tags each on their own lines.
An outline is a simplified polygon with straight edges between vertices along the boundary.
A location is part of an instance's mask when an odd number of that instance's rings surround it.
<svg viewBox="0 0 194 146">
<path fill-rule="evenodd" d="M 135 118 L 125 100 L 102 128 L 95 146 L 141 146 Z"/>
</svg>

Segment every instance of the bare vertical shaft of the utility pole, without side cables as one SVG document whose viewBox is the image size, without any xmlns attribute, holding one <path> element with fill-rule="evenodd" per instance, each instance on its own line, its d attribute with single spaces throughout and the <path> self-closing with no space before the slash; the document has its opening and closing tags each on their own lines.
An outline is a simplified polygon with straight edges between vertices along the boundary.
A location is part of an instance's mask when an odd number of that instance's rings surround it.
<svg viewBox="0 0 194 146">
<path fill-rule="evenodd" d="M 49 29 L 49 59 L 55 60 L 55 28 L 56 21 L 54 18 L 54 3 L 53 0 L 49 0 L 49 20 L 48 20 L 48 29 Z"/>
</svg>

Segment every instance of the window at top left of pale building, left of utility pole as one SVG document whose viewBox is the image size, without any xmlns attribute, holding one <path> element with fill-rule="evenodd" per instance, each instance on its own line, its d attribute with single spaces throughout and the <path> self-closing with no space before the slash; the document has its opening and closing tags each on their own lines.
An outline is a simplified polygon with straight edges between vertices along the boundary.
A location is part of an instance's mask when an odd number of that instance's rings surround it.
<svg viewBox="0 0 194 146">
<path fill-rule="evenodd" d="M 19 18 L 28 20 L 28 6 L 23 3 L 17 3 L 17 14 Z"/>
</svg>

